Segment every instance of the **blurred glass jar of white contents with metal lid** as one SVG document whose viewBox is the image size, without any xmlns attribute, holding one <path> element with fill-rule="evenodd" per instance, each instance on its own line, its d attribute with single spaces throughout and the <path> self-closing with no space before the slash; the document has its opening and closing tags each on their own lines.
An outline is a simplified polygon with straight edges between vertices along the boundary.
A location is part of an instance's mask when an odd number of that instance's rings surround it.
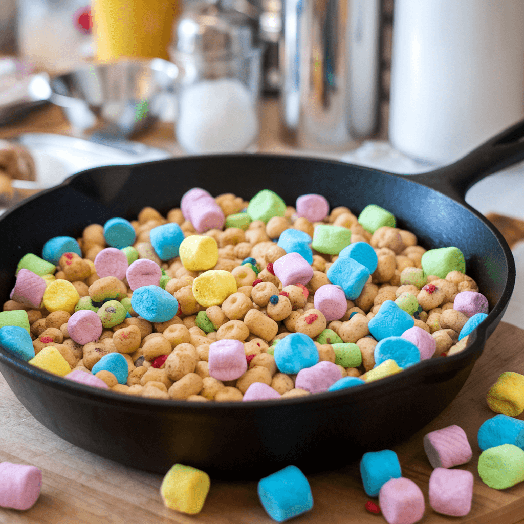
<svg viewBox="0 0 524 524">
<path fill-rule="evenodd" d="M 263 46 L 255 27 L 221 0 L 192 5 L 173 25 L 176 133 L 186 151 L 242 151 L 257 138 Z"/>
</svg>

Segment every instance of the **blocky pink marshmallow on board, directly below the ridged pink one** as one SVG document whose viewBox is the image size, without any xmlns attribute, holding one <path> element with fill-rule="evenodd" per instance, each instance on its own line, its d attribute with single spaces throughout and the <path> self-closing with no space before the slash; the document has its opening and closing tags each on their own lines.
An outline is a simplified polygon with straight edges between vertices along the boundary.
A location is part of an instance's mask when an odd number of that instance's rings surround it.
<svg viewBox="0 0 524 524">
<path fill-rule="evenodd" d="M 443 515 L 464 517 L 471 510 L 473 473 L 437 467 L 429 477 L 429 503 Z"/>
</svg>

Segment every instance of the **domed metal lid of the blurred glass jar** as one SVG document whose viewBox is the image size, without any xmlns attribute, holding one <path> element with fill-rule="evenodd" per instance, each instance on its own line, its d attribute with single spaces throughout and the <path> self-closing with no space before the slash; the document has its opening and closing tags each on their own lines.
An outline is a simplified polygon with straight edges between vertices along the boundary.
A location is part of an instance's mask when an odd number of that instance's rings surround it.
<svg viewBox="0 0 524 524">
<path fill-rule="evenodd" d="M 192 6 L 174 23 L 171 51 L 218 58 L 249 52 L 254 42 L 254 24 L 221 0 L 205 0 Z"/>
</svg>

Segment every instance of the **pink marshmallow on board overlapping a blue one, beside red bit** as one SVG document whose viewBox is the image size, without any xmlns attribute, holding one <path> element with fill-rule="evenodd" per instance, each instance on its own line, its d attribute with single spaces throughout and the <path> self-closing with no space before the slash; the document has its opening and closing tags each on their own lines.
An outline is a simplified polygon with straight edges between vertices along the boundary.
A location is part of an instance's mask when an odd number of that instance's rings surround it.
<svg viewBox="0 0 524 524">
<path fill-rule="evenodd" d="M 424 516 L 424 494 L 409 478 L 391 478 L 378 494 L 380 511 L 388 524 L 414 524 Z"/>
</svg>

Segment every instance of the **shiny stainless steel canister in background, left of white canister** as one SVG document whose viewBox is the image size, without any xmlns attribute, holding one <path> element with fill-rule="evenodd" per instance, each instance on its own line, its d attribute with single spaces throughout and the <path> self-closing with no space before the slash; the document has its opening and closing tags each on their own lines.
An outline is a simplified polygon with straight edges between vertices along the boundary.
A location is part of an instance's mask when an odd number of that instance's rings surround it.
<svg viewBox="0 0 524 524">
<path fill-rule="evenodd" d="M 300 147 L 342 149 L 378 120 L 380 0 L 286 0 L 284 128 Z"/>
</svg>

